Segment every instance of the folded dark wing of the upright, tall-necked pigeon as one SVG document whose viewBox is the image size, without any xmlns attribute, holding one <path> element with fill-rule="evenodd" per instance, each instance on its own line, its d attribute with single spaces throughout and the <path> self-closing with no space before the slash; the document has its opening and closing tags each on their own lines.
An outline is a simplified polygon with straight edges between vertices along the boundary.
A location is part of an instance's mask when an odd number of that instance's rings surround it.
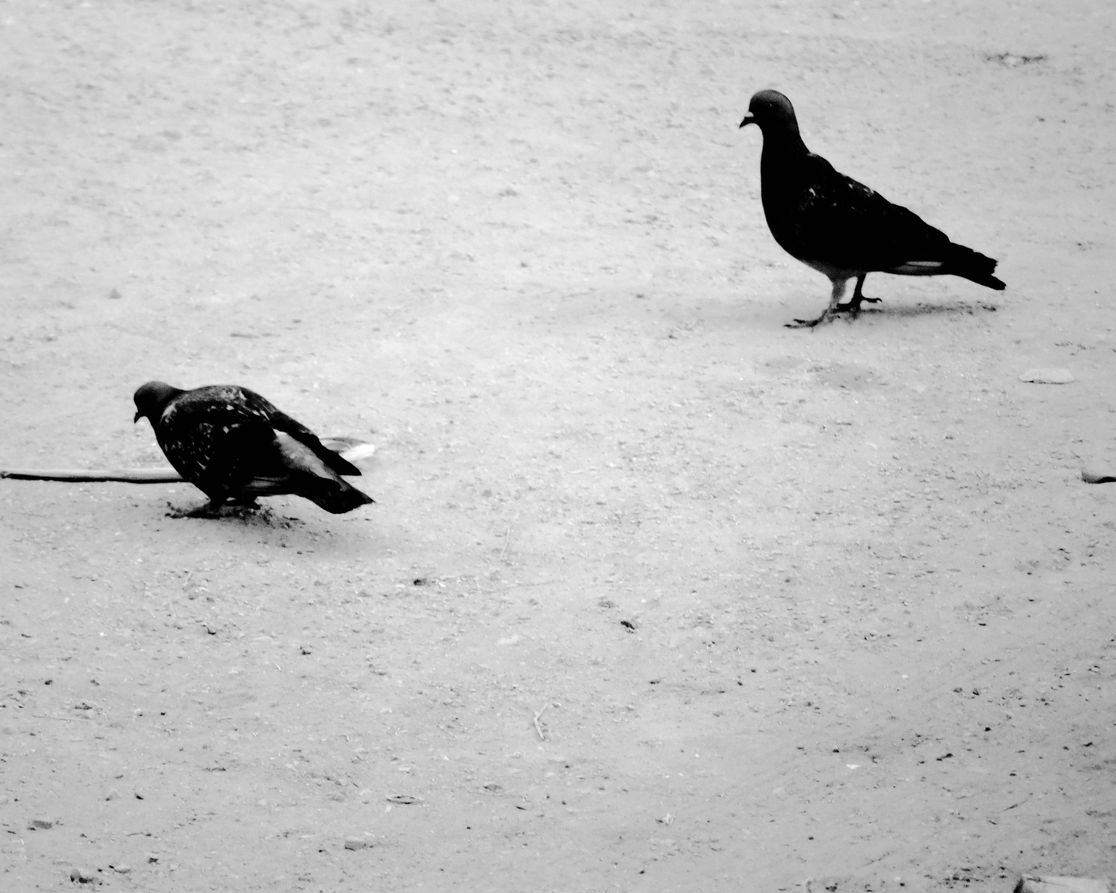
<svg viewBox="0 0 1116 893">
<path fill-rule="evenodd" d="M 787 221 L 796 257 L 863 271 L 946 258 L 944 232 L 838 173 L 820 155 L 808 155 L 802 173 L 798 208 Z"/>
</svg>

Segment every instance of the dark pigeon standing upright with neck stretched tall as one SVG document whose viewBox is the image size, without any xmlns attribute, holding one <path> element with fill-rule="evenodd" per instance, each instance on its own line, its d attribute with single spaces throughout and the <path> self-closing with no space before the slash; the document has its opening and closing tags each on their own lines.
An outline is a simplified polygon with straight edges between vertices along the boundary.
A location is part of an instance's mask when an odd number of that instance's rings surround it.
<svg viewBox="0 0 1116 893">
<path fill-rule="evenodd" d="M 790 328 L 816 326 L 836 314 L 859 311 L 875 304 L 860 290 L 869 272 L 899 276 L 960 276 L 1002 291 L 995 261 L 956 244 L 917 214 L 892 204 L 877 192 L 834 170 L 810 152 L 798 134 L 790 100 L 776 90 L 760 90 L 748 105 L 740 126 L 758 124 L 763 132 L 760 192 L 763 215 L 775 240 L 790 255 L 833 281 L 833 297 L 817 319 L 796 319 Z M 856 277 L 853 299 L 841 304 L 848 280 Z"/>
</svg>

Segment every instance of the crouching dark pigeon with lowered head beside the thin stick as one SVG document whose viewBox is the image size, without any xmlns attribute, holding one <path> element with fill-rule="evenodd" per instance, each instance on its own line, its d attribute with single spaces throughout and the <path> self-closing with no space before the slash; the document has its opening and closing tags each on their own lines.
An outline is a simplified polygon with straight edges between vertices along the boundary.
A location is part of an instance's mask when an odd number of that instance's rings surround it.
<svg viewBox="0 0 1116 893">
<path fill-rule="evenodd" d="M 205 517 L 227 503 L 254 506 L 258 496 L 295 493 L 340 515 L 372 501 L 341 474 L 360 470 L 323 445 L 308 428 L 237 385 L 183 391 L 147 382 L 135 393 L 136 422 L 146 416 L 174 470 L 210 502 Z"/>
</svg>

